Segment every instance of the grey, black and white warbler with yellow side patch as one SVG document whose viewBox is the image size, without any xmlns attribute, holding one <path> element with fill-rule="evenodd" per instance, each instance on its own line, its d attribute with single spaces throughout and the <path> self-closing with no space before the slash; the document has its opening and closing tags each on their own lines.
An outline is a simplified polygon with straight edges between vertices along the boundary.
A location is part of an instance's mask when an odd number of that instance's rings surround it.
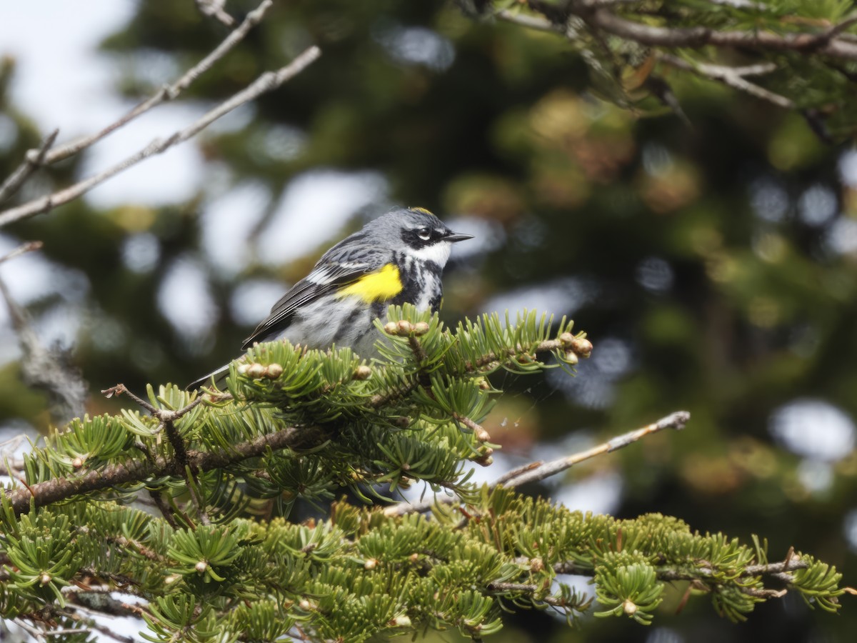
<svg viewBox="0 0 857 643">
<path fill-rule="evenodd" d="M 373 321 L 393 303 L 418 310 L 440 307 L 443 267 L 452 243 L 472 238 L 453 232 L 422 207 L 398 207 L 327 250 L 312 271 L 273 304 L 271 314 L 244 340 L 289 340 L 308 348 L 350 346 L 362 357 L 375 352 Z M 229 364 L 192 382 L 198 388 Z"/>
</svg>

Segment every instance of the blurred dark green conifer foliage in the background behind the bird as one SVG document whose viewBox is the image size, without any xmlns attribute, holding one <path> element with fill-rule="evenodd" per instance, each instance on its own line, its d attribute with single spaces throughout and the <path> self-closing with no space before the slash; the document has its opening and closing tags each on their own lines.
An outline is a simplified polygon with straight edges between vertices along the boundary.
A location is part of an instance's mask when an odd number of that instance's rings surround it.
<svg viewBox="0 0 857 643">
<path fill-rule="evenodd" d="M 255 7 L 228 4 L 235 15 Z M 225 33 L 192 2 L 145 0 L 103 48 L 121 91 L 136 100 Z M 72 305 L 81 316 L 75 362 L 93 388 L 90 412 L 122 403 L 104 400 L 101 388 L 189 382 L 236 356 L 257 308 L 243 309 L 237 291 L 258 286 L 265 309 L 277 284 L 299 279 L 364 219 L 391 203 L 428 207 L 478 235 L 447 268 L 442 319 L 537 306 L 571 315 L 595 344 L 574 380 L 496 382 L 508 392 L 486 428 L 504 447 L 499 462 L 568 453 L 687 409 L 686 431 L 533 491 L 592 490 L 619 517 L 661 512 L 702 532 L 758 533 L 771 559 L 794 545 L 854 584 L 857 152 L 849 143 L 824 143 L 797 114 L 678 75 L 668 80 L 692 129 L 666 110 L 620 109 L 596 98 L 565 40 L 470 20 L 438 2 L 279 3 L 185 98 L 213 105 L 311 43 L 321 45 L 320 61 L 237 126 L 189 143 L 207 162 L 195 198 L 108 210 L 75 201 L 6 231 L 44 241 L 44 254 L 85 282 L 72 303 L 54 293 L 30 309 L 41 318 Z M 159 78 L 156 60 L 172 73 Z M 9 103 L 13 74 L 6 63 L 0 108 L 19 135 L 0 157 L 0 176 L 40 135 Z M 381 189 L 345 225 L 301 211 L 302 229 L 322 228 L 325 238 L 288 261 L 258 258 L 284 190 L 328 170 Z M 80 161 L 61 165 L 41 184 L 63 185 L 80 171 Z M 252 221 L 240 239 L 246 255 L 224 267 L 217 243 L 206 246 L 204 213 L 248 185 L 261 195 L 244 201 L 252 211 L 229 214 Z M 159 304 L 181 297 L 180 262 L 204 276 L 186 284 L 196 291 L 189 300 L 201 292 L 209 302 L 186 327 Z M 0 418 L 45 430 L 44 408 L 15 362 L 0 368 Z M 848 596 L 840 616 L 787 596 L 734 626 L 704 599 L 677 615 L 685 591 L 670 589 L 652 628 L 590 620 L 577 632 L 524 612 L 494 640 L 844 641 L 857 628 Z"/>
</svg>

